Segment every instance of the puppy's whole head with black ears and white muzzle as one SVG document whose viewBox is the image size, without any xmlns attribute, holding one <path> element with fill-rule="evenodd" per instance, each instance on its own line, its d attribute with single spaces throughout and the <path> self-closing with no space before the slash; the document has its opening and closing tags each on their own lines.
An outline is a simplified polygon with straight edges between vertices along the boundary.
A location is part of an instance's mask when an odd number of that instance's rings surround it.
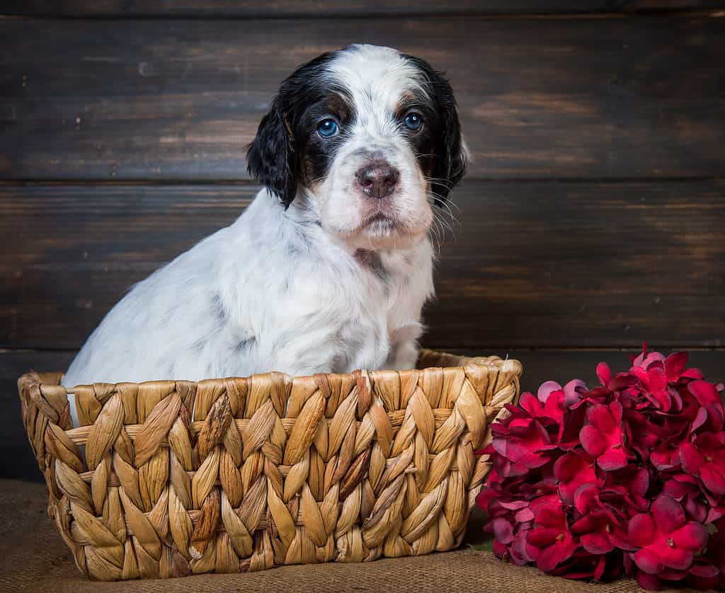
<svg viewBox="0 0 725 593">
<path fill-rule="evenodd" d="M 247 154 L 285 207 L 297 198 L 350 246 L 402 248 L 465 173 L 450 84 L 423 59 L 354 45 L 300 67 Z M 297 204 L 297 203 L 296 203 Z"/>
</svg>

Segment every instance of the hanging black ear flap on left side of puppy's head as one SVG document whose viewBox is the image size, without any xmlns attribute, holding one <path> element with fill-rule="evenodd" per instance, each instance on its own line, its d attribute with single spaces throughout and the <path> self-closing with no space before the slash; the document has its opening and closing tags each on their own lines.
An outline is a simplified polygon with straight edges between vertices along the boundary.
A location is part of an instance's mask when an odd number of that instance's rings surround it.
<svg viewBox="0 0 725 593">
<path fill-rule="evenodd" d="M 249 144 L 247 170 L 276 194 L 285 208 L 289 207 L 297 194 L 299 159 L 279 97 Z"/>
</svg>

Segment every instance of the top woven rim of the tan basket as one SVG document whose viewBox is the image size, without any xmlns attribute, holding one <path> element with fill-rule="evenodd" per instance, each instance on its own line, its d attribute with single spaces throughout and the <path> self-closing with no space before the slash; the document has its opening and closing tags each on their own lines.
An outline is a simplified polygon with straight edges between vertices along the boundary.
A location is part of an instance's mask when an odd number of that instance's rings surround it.
<svg viewBox="0 0 725 593">
<path fill-rule="evenodd" d="M 188 379 L 151 379 L 149 381 L 139 381 L 138 383 L 134 381 L 119 381 L 117 383 L 106 383 L 104 381 L 98 381 L 96 383 L 78 383 L 78 385 L 75 386 L 65 386 L 62 385 L 62 380 L 65 377 L 65 371 L 55 371 L 55 372 L 43 372 L 39 373 L 36 370 L 29 370 L 28 373 L 23 373 L 20 378 L 18 378 L 17 383 L 18 387 L 20 388 L 21 383 L 30 383 L 30 384 L 36 384 L 36 385 L 53 385 L 53 386 L 62 386 L 65 389 L 66 394 L 72 395 L 75 394 L 75 389 L 77 387 L 85 387 L 85 386 L 118 386 L 118 385 L 144 385 L 144 386 L 154 386 L 154 385 L 168 385 L 170 383 L 193 383 L 196 386 L 202 385 L 204 383 L 212 383 L 215 381 L 228 381 L 232 379 L 253 379 L 254 377 L 262 378 L 262 377 L 269 377 L 270 375 L 276 375 L 281 376 L 285 378 L 286 381 L 294 381 L 294 379 L 297 379 L 298 381 L 302 381 L 305 379 L 312 379 L 319 376 L 325 376 L 329 378 L 347 378 L 352 380 L 357 380 L 357 378 L 360 376 L 360 374 L 367 374 L 372 376 L 373 378 L 376 378 L 376 380 L 383 379 L 386 374 L 389 373 L 395 373 L 397 376 L 403 376 L 408 377 L 413 373 L 421 373 L 423 370 L 428 369 L 434 369 L 434 368 L 440 368 L 440 369 L 450 369 L 450 368 L 468 368 L 468 369 L 483 369 L 488 368 L 495 370 L 497 373 L 500 372 L 504 366 L 508 366 L 506 370 L 508 373 L 511 373 L 512 378 L 521 378 L 521 375 L 523 374 L 523 365 L 521 365 L 521 362 L 516 360 L 515 358 L 501 358 L 499 356 L 478 356 L 478 357 L 468 357 L 464 356 L 463 354 L 450 354 L 449 352 L 442 352 L 439 350 L 433 350 L 433 349 L 427 349 L 427 348 L 421 348 L 418 353 L 418 362 L 421 362 L 426 359 L 426 357 L 450 357 L 451 360 L 457 360 L 459 364 L 452 364 L 452 365 L 446 365 L 446 366 L 440 366 L 440 365 L 425 365 L 421 368 L 413 368 L 413 369 L 406 369 L 406 370 L 394 370 L 394 369 L 381 369 L 381 370 L 363 370 L 363 369 L 357 369 L 353 370 L 351 373 L 317 373 L 315 375 L 289 375 L 287 373 L 282 373 L 281 371 L 276 370 L 270 370 L 266 373 L 253 373 L 252 375 L 247 376 L 227 376 L 227 377 L 215 377 L 215 378 L 204 378 L 200 379 L 199 381 L 192 381 Z M 463 363 L 463 364 L 460 364 Z"/>
</svg>

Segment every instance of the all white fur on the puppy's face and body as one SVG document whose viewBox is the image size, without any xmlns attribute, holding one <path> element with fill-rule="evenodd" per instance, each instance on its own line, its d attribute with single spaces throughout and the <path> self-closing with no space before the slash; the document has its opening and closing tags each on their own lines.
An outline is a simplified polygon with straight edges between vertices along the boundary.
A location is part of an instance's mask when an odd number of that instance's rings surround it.
<svg viewBox="0 0 725 593">
<path fill-rule="evenodd" d="M 80 350 L 65 385 L 413 367 L 421 308 L 434 294 L 432 211 L 392 118 L 416 72 L 395 50 L 357 46 L 329 76 L 349 90 L 358 120 L 326 179 L 299 188 L 287 210 L 260 191 L 233 225 L 134 286 Z M 365 225 L 378 206 L 353 187 L 361 149 L 400 170 L 386 211 L 394 227 Z M 374 265 L 356 257 L 361 247 Z"/>
</svg>

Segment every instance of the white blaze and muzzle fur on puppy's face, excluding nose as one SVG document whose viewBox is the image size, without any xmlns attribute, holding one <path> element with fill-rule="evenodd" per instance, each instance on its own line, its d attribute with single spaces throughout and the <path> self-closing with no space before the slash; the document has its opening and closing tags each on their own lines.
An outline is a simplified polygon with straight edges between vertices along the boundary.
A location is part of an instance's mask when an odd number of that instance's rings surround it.
<svg viewBox="0 0 725 593">
<path fill-rule="evenodd" d="M 419 72 L 395 49 L 362 45 L 340 54 L 331 63 L 328 76 L 350 94 L 357 119 L 330 174 L 315 187 L 323 225 L 363 249 L 404 246 L 407 239 L 427 231 L 433 221 L 426 179 L 392 117 L 402 94 L 421 88 Z M 372 234 L 377 244 L 373 245 L 370 233 L 360 236 L 358 225 L 380 210 L 381 203 L 360 199 L 355 191 L 355 171 L 371 155 L 394 163 L 400 172 L 395 199 L 389 204 L 389 214 L 399 225 L 376 228 Z"/>
</svg>

